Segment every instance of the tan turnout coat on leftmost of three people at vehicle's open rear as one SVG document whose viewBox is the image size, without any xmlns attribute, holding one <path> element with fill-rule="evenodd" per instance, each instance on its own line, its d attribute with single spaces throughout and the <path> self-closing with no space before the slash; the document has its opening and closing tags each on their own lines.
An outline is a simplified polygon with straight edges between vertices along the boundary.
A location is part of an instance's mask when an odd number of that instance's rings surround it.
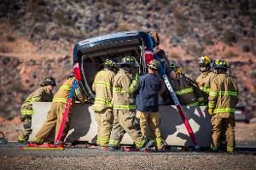
<svg viewBox="0 0 256 170">
<path fill-rule="evenodd" d="M 112 108 L 114 72 L 108 69 L 99 71 L 92 84 L 92 90 L 96 92 L 96 98 L 92 109 L 102 111 L 105 108 Z"/>
</svg>

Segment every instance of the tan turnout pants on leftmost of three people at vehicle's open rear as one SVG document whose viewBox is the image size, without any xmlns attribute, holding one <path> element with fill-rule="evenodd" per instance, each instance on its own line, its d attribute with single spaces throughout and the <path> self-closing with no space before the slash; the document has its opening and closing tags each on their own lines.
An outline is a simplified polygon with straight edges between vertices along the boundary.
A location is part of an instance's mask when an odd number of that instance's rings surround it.
<svg viewBox="0 0 256 170">
<path fill-rule="evenodd" d="M 113 127 L 113 110 L 106 108 L 102 111 L 95 111 L 95 113 L 98 125 L 97 144 L 102 147 L 107 147 Z"/>
</svg>

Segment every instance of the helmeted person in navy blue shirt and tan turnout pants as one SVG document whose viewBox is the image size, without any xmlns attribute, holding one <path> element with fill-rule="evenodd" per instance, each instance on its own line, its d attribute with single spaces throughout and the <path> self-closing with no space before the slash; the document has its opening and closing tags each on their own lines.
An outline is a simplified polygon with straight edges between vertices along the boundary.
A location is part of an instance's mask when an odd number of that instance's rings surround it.
<svg viewBox="0 0 256 170">
<path fill-rule="evenodd" d="M 140 78 L 137 94 L 137 116 L 140 119 L 140 127 L 146 136 L 146 123 L 152 139 L 154 139 L 156 150 L 165 150 L 164 140 L 160 133 L 159 93 L 162 89 L 162 81 L 157 76 L 159 62 L 153 59 L 149 62 L 148 73 Z"/>
</svg>

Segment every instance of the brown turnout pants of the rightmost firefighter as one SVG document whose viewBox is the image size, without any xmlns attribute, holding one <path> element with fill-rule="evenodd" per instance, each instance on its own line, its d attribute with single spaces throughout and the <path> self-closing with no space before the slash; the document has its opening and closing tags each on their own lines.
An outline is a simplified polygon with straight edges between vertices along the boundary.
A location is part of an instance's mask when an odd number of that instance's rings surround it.
<svg viewBox="0 0 256 170">
<path fill-rule="evenodd" d="M 212 116 L 212 146 L 219 149 L 220 137 L 224 133 L 227 142 L 227 151 L 233 152 L 235 149 L 235 117 L 225 116 L 225 114 L 218 113 Z"/>
</svg>

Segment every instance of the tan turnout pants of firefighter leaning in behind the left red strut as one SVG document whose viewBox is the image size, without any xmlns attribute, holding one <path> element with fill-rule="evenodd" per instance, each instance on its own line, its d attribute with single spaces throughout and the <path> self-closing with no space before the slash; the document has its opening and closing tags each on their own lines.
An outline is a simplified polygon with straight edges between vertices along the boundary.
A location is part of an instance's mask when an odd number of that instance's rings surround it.
<svg viewBox="0 0 256 170">
<path fill-rule="evenodd" d="M 61 126 L 61 119 L 65 111 L 66 104 L 64 103 L 53 103 L 50 107 L 50 110 L 47 115 L 47 120 L 44 122 L 44 125 L 40 128 L 38 133 L 36 134 L 34 138 L 34 142 L 38 144 L 43 144 L 46 139 L 48 139 L 49 134 L 55 129 L 55 140 L 57 138 L 60 126 Z M 68 132 L 68 125 L 69 125 L 69 117 L 67 117 L 67 122 L 65 124 L 61 141 L 65 139 L 65 136 Z"/>
</svg>

